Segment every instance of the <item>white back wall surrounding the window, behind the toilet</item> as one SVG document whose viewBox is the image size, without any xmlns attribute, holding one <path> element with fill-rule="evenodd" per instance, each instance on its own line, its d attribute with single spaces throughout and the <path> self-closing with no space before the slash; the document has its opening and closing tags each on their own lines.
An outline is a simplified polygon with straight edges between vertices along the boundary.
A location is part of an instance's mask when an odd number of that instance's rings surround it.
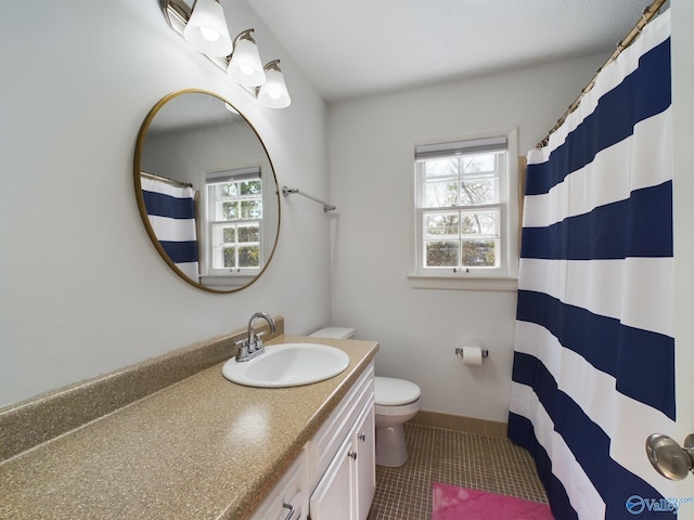
<svg viewBox="0 0 694 520">
<path fill-rule="evenodd" d="M 422 407 L 506 420 L 515 292 L 413 289 L 412 143 L 518 128 L 520 155 L 540 141 L 606 55 L 344 102 L 330 107 L 332 323 L 381 341 L 376 374 L 422 388 Z M 479 368 L 454 349 L 489 349 Z"/>
</svg>

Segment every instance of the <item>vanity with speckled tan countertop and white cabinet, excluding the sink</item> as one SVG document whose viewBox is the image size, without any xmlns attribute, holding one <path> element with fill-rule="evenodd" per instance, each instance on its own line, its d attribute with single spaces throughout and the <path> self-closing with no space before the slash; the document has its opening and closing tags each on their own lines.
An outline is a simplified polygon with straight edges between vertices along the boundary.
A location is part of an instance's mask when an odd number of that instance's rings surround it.
<svg viewBox="0 0 694 520">
<path fill-rule="evenodd" d="M 297 520 L 310 508 L 313 520 L 365 519 L 378 346 L 284 335 L 267 346 L 297 341 L 344 350 L 349 366 L 281 389 L 203 369 L 2 461 L 0 518 Z"/>
</svg>

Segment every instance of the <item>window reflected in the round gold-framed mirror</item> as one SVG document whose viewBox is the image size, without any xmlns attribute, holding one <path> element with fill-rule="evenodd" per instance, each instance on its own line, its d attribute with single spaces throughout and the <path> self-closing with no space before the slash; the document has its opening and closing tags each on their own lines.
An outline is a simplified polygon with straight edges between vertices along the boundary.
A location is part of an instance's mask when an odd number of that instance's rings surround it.
<svg viewBox="0 0 694 520">
<path fill-rule="evenodd" d="M 260 168 L 205 176 L 208 275 L 256 274 L 264 266 Z"/>
</svg>

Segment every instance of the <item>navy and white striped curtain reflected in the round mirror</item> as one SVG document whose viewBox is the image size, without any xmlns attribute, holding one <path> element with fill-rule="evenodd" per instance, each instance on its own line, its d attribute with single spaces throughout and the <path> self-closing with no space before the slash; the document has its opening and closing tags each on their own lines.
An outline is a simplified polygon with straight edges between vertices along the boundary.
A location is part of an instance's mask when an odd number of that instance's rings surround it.
<svg viewBox="0 0 694 520">
<path fill-rule="evenodd" d="M 194 190 L 144 176 L 141 185 L 150 224 L 162 248 L 183 274 L 198 282 Z"/>
</svg>

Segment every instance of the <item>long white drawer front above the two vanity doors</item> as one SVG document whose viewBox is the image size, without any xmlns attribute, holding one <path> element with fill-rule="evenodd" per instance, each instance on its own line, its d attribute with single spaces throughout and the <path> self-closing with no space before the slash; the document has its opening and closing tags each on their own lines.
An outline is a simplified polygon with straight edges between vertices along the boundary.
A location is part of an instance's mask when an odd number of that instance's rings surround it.
<svg viewBox="0 0 694 520">
<path fill-rule="evenodd" d="M 309 442 L 310 465 L 316 470 L 314 474 L 323 474 L 362 410 L 372 403 L 373 362 Z"/>
</svg>

